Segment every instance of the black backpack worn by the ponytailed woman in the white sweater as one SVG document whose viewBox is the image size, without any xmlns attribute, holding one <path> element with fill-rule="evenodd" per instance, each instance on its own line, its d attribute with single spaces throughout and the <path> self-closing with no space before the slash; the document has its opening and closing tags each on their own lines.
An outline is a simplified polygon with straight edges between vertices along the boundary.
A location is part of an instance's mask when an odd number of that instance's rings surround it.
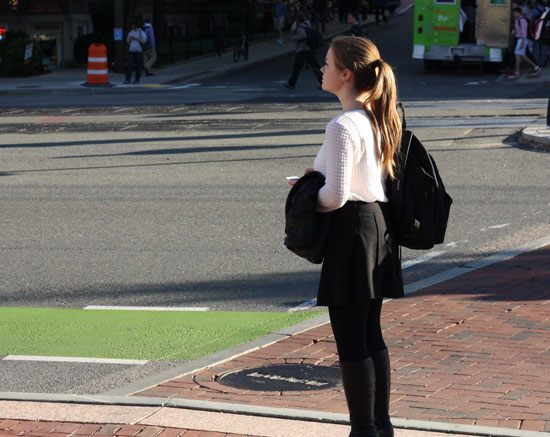
<svg viewBox="0 0 550 437">
<path fill-rule="evenodd" d="M 394 180 L 388 180 L 393 213 L 394 236 L 400 246 L 431 249 L 443 243 L 453 199 L 445 186 L 433 157 L 420 140 L 407 130 L 403 111 L 403 136 L 397 156 Z"/>
</svg>

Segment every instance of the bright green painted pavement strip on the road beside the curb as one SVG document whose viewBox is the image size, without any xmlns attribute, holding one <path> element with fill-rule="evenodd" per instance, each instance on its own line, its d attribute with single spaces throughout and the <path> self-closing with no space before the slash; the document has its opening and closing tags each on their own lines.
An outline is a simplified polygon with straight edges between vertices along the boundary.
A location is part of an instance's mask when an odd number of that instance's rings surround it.
<svg viewBox="0 0 550 437">
<path fill-rule="evenodd" d="M 192 360 L 319 314 L 0 307 L 0 355 Z"/>
</svg>

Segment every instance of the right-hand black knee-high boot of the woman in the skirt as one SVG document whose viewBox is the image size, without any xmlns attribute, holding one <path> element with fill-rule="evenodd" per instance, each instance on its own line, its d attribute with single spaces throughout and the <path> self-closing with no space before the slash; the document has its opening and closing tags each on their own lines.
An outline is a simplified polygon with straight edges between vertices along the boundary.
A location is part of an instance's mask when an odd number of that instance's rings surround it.
<svg viewBox="0 0 550 437">
<path fill-rule="evenodd" d="M 376 385 L 374 394 L 374 424 L 379 437 L 394 437 L 390 421 L 390 356 L 388 350 L 370 352 L 374 363 Z"/>
</svg>

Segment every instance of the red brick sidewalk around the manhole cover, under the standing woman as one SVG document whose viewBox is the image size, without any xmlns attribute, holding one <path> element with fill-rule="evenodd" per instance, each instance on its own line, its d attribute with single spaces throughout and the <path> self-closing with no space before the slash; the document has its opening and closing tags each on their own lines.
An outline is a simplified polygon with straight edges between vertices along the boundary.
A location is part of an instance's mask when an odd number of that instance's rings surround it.
<svg viewBox="0 0 550 437">
<path fill-rule="evenodd" d="M 387 302 L 393 417 L 550 431 L 550 246 Z M 334 366 L 323 325 L 134 396 L 346 413 L 341 387 L 257 392 L 226 372 L 270 364 Z"/>
</svg>

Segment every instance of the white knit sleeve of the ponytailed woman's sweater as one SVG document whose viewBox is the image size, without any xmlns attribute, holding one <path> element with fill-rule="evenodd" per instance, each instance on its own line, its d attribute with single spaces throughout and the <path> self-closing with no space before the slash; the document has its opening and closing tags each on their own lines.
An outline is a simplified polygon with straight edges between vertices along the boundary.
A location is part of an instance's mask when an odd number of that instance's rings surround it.
<svg viewBox="0 0 550 437">
<path fill-rule="evenodd" d="M 324 212 L 342 207 L 349 199 L 353 168 L 353 138 L 350 130 L 331 122 L 325 135 L 325 185 L 319 190 L 318 205 Z"/>
</svg>

